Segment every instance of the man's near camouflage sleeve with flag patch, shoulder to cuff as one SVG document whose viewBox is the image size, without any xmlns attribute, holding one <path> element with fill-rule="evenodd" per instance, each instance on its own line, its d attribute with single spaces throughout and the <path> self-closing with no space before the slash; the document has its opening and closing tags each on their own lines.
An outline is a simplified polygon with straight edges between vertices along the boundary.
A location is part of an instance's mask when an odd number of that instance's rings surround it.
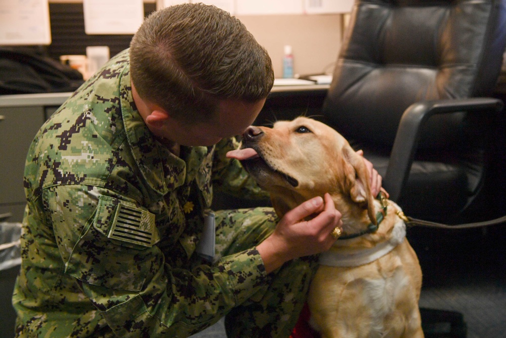
<svg viewBox="0 0 506 338">
<path fill-rule="evenodd" d="M 44 194 L 65 274 L 118 336 L 187 336 L 265 288 L 256 250 L 191 271 L 164 262 L 154 215 L 133 200 L 85 185 Z"/>
</svg>

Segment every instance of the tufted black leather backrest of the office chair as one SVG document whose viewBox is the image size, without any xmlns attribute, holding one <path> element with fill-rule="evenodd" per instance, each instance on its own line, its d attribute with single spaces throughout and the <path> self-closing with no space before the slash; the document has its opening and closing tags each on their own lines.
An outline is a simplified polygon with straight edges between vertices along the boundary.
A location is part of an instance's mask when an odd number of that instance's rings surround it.
<svg viewBox="0 0 506 338">
<path fill-rule="evenodd" d="M 506 0 L 357 0 L 326 122 L 359 143 L 391 145 L 412 103 L 490 95 L 505 43 Z M 455 140 L 463 118 L 431 119 L 421 146 Z"/>
</svg>

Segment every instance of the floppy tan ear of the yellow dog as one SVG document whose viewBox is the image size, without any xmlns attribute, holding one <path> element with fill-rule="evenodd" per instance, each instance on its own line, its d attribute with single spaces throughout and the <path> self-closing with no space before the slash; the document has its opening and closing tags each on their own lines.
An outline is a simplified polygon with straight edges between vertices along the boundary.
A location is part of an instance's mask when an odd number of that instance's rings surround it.
<svg viewBox="0 0 506 338">
<path fill-rule="evenodd" d="M 371 195 L 369 172 L 364 160 L 350 146 L 343 147 L 343 160 L 345 163 L 345 189 L 349 191 L 354 202 L 367 205 L 367 214 L 371 222 L 376 225 L 374 198 Z"/>
</svg>

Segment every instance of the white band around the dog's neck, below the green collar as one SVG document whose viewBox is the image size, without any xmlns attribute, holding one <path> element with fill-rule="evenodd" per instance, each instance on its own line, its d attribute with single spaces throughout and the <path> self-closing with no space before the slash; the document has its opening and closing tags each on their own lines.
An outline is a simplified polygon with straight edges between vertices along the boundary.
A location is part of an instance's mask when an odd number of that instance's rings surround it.
<svg viewBox="0 0 506 338">
<path fill-rule="evenodd" d="M 402 243 L 404 237 L 406 237 L 406 224 L 402 219 L 398 219 L 394 224 L 392 237 L 388 241 L 379 243 L 370 249 L 360 249 L 346 253 L 325 251 L 320 254 L 319 264 L 329 267 L 358 267 L 368 264 L 392 251 Z M 342 240 L 340 244 L 352 240 Z"/>
</svg>

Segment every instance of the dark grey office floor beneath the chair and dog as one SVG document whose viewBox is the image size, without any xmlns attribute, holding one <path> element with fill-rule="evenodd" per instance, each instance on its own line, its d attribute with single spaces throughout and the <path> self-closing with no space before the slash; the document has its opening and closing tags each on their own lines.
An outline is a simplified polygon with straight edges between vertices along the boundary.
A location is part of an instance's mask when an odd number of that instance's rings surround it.
<svg viewBox="0 0 506 338">
<path fill-rule="evenodd" d="M 424 273 L 420 307 L 460 312 L 468 338 L 506 336 L 506 224 L 486 231 L 411 228 L 408 239 Z M 192 336 L 223 337 L 223 320 Z"/>
</svg>

